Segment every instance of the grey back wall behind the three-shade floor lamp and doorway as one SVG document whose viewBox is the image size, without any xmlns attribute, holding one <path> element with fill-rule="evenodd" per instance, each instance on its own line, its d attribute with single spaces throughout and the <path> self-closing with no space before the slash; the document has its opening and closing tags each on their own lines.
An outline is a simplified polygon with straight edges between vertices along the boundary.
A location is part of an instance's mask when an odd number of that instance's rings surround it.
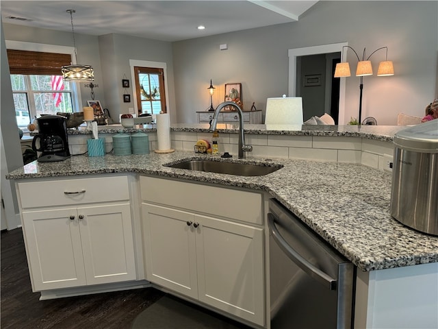
<svg viewBox="0 0 438 329">
<path fill-rule="evenodd" d="M 387 46 L 394 61 L 394 77 L 364 77 L 363 117 L 396 125 L 398 112 L 422 116 L 438 97 L 437 31 L 437 1 L 320 1 L 295 23 L 174 42 L 179 122 L 195 122 L 195 112 L 209 106 L 210 79 L 214 106 L 223 100 L 224 84 L 242 82 L 244 107 L 255 101 L 264 109 L 266 98 L 287 94 L 287 49 L 338 42 L 348 42 L 359 56 L 364 47 L 370 55 Z M 219 50 L 223 43 L 228 50 Z M 384 56 L 372 56 L 374 71 Z M 345 120 L 357 117 L 359 77 L 347 78 L 345 104 Z"/>
</svg>

